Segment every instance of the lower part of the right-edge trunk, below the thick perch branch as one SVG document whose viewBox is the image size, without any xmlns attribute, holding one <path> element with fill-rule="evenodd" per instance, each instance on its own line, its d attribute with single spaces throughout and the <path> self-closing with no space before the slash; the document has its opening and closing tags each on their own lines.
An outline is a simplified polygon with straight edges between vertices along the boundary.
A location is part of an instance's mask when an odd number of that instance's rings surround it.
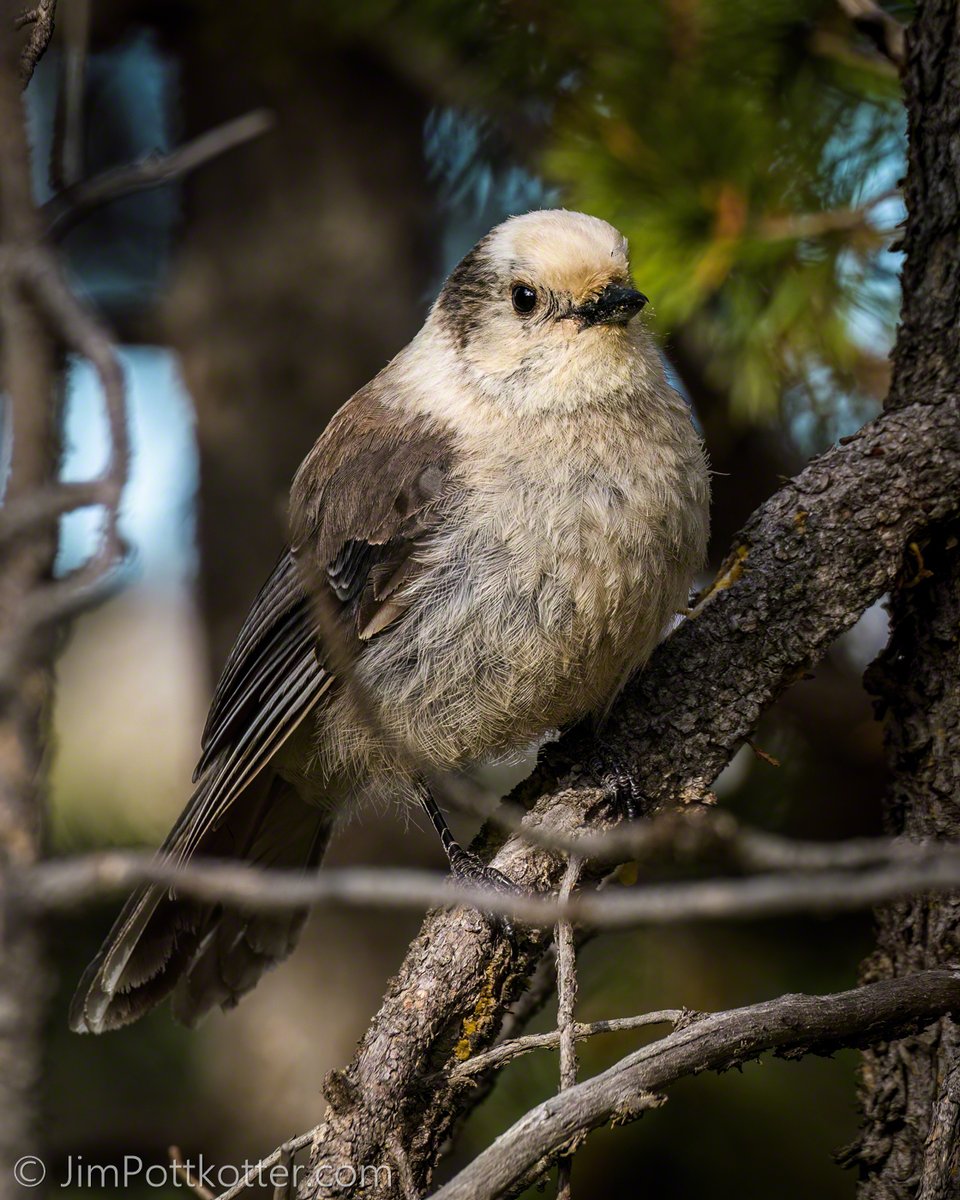
<svg viewBox="0 0 960 1200">
<path fill-rule="evenodd" d="M 960 839 L 960 545 L 956 528 L 924 547 L 929 577 L 907 581 L 892 611 L 894 634 L 869 682 L 887 708 L 894 781 L 890 832 Z M 929 896 L 877 914 L 869 980 L 960 956 L 960 900 Z M 960 1192 L 960 1026 L 944 1018 L 918 1037 L 870 1051 L 858 1150 L 869 1200 L 948 1200 Z"/>
</svg>

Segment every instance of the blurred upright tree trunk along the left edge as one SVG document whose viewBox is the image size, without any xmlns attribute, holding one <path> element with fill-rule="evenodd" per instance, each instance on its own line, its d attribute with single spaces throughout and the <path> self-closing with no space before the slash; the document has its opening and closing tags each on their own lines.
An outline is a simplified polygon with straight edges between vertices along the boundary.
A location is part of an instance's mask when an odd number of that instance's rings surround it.
<svg viewBox="0 0 960 1200">
<path fill-rule="evenodd" d="M 23 295 L 7 256 L 36 239 L 16 49 L 0 29 L 0 340 L 4 437 L 16 442 L 4 494 L 16 505 L 49 481 L 58 444 L 52 403 L 54 348 Z M 37 858 L 53 646 L 49 631 L 24 641 L 20 620 L 49 578 L 55 527 L 11 539 L 0 554 L 0 1198 L 20 1193 L 13 1164 L 36 1152 L 36 1087 L 46 979 L 38 925 L 13 899 L 10 874 Z"/>
</svg>

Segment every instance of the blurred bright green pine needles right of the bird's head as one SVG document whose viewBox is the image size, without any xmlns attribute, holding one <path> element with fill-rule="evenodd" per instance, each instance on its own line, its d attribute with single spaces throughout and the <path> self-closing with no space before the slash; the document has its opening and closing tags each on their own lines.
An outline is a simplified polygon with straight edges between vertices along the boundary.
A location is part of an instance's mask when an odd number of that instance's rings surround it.
<svg viewBox="0 0 960 1200">
<path fill-rule="evenodd" d="M 870 205 L 902 161 L 887 65 L 832 0 L 563 11 L 580 66 L 544 168 L 626 233 L 658 330 L 683 336 L 734 416 L 769 418 L 791 389 L 876 398 L 900 214 Z"/>
</svg>

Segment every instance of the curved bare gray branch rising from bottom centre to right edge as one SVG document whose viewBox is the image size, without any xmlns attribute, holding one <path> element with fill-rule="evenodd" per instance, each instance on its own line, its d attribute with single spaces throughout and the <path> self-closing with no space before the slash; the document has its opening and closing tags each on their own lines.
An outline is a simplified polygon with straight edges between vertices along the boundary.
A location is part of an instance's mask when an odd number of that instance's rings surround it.
<svg viewBox="0 0 960 1200">
<path fill-rule="evenodd" d="M 832 1054 L 924 1028 L 960 1006 L 960 972 L 924 971 L 830 996 L 781 996 L 701 1016 L 608 1070 L 530 1109 L 433 1200 L 512 1195 L 574 1139 L 635 1120 L 656 1093 L 702 1070 L 727 1070 L 766 1051 Z"/>
</svg>

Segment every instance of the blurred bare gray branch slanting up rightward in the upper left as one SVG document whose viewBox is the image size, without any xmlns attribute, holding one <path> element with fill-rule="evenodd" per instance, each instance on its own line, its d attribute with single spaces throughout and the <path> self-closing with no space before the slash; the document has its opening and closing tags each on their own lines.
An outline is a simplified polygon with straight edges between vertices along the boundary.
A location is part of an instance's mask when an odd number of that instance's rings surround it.
<svg viewBox="0 0 960 1200">
<path fill-rule="evenodd" d="M 65 188 L 43 205 L 47 236 L 59 240 L 95 209 L 134 192 L 170 184 L 228 150 L 245 145 L 274 127 L 274 115 L 254 109 L 208 130 L 169 154 L 152 154 L 139 162 L 112 167 L 92 179 Z"/>
</svg>

